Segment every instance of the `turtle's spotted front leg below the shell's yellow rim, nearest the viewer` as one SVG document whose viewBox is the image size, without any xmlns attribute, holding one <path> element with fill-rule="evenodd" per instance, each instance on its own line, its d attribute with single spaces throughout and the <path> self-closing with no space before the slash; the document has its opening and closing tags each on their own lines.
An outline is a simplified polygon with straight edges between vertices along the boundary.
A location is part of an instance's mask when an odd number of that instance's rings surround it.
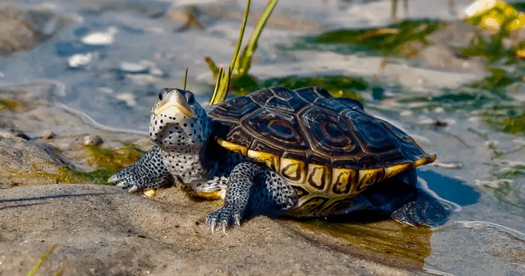
<svg viewBox="0 0 525 276">
<path fill-rule="evenodd" d="M 239 163 L 228 178 L 224 206 L 208 214 L 206 223 L 215 228 L 240 226 L 250 211 L 286 210 L 297 204 L 295 190 L 277 173 L 253 162 Z"/>
</svg>

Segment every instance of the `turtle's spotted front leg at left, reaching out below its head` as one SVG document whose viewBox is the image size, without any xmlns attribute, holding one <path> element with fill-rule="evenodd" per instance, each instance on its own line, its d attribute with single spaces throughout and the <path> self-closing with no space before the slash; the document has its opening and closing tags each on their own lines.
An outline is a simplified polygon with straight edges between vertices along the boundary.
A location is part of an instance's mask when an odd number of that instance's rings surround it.
<svg viewBox="0 0 525 276">
<path fill-rule="evenodd" d="M 159 146 L 153 146 L 142 158 L 108 179 L 116 187 L 135 192 L 139 189 L 154 189 L 173 183 L 174 179 L 162 160 Z"/>
</svg>

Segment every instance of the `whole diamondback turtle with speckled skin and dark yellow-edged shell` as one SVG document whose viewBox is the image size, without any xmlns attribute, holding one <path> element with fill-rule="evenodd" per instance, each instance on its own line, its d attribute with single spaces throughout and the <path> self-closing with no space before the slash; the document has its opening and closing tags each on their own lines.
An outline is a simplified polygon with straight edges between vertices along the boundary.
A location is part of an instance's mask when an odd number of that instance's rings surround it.
<svg viewBox="0 0 525 276">
<path fill-rule="evenodd" d="M 374 210 L 417 227 L 443 224 L 450 213 L 417 188 L 415 168 L 435 154 L 360 101 L 321 87 L 269 87 L 206 107 L 191 91 L 165 88 L 149 137 L 155 145 L 108 181 L 129 192 L 175 182 L 193 196 L 223 199 L 207 214 L 212 232 L 256 214 Z"/>
</svg>

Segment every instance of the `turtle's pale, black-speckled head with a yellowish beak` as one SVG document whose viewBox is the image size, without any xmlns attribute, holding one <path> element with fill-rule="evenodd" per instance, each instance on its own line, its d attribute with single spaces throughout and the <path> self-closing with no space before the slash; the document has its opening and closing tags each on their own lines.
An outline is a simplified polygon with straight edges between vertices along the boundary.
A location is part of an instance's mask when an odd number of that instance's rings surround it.
<svg viewBox="0 0 525 276">
<path fill-rule="evenodd" d="M 202 148 L 209 135 L 206 111 L 191 91 L 162 89 L 150 116 L 150 139 L 171 152 Z"/>
</svg>

